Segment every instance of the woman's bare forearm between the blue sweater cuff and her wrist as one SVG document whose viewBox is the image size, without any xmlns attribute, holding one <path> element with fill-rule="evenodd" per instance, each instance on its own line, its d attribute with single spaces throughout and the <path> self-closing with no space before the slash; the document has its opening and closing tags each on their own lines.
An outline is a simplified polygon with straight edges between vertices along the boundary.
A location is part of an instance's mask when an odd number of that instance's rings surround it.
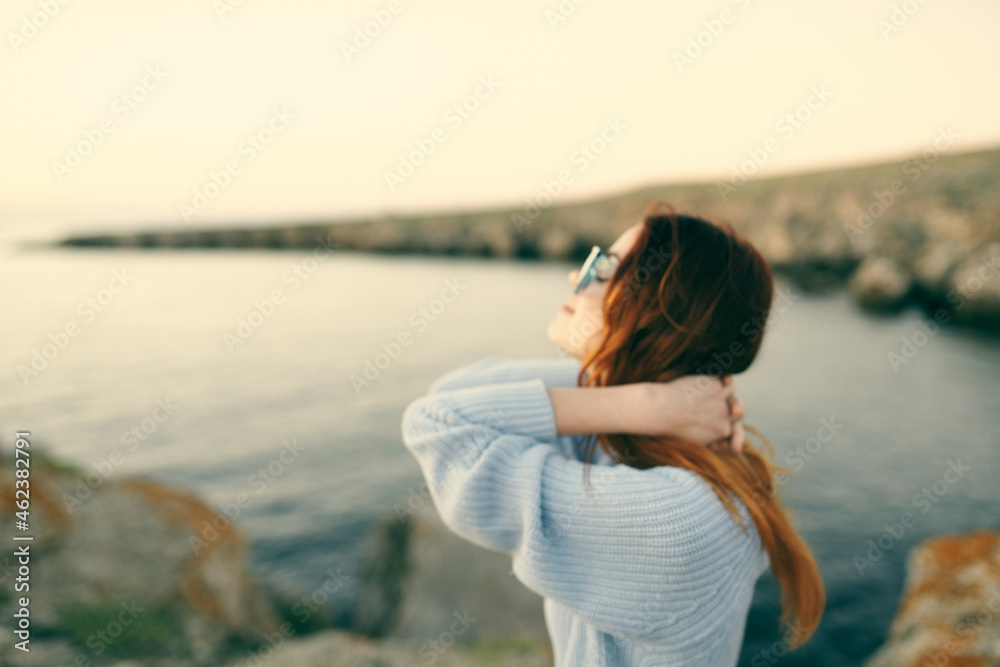
<svg viewBox="0 0 1000 667">
<path fill-rule="evenodd" d="M 640 390 L 639 384 L 549 387 L 558 435 L 632 432 Z"/>
</svg>

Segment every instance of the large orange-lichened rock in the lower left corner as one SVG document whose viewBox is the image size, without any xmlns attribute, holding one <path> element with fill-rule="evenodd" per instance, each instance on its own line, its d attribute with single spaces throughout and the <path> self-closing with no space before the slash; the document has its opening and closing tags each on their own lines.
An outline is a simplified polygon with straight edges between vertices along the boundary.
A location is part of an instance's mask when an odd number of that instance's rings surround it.
<svg viewBox="0 0 1000 667">
<path fill-rule="evenodd" d="M 69 641 L 91 661 L 152 653 L 212 665 L 231 641 L 257 644 L 278 628 L 247 572 L 246 538 L 225 514 L 141 477 L 60 464 L 37 443 L 30 461 L 33 636 Z M 0 459 L 6 534 L 14 479 L 13 458 Z M 0 601 L 7 618 L 15 604 Z M 98 631 L 108 639 L 95 640 Z M 12 644 L 6 633 L 0 662 L 21 658 Z"/>
</svg>

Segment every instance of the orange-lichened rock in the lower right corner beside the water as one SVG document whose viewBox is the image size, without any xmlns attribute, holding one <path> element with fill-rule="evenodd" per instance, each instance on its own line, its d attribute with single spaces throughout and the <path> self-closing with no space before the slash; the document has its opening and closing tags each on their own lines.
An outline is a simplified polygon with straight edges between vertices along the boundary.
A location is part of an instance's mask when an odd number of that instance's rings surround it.
<svg viewBox="0 0 1000 667">
<path fill-rule="evenodd" d="M 925 540 L 907 558 L 889 637 L 865 667 L 1000 664 L 1000 532 Z"/>
</svg>

